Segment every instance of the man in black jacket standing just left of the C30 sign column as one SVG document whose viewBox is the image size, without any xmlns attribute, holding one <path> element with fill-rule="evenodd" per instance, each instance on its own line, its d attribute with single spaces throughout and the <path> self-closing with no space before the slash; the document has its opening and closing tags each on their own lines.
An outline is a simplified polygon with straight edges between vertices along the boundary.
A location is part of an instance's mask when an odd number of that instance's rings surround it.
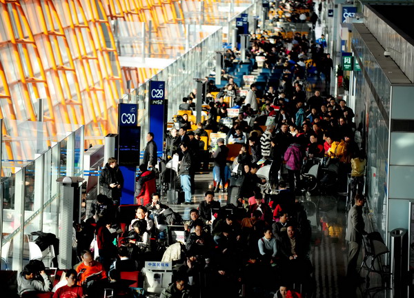
<svg viewBox="0 0 414 298">
<path fill-rule="evenodd" d="M 119 206 L 119 200 L 121 199 L 121 190 L 124 186 L 124 175 L 117 164 L 117 159 L 110 157 L 105 168 L 101 171 L 101 177 L 99 177 L 99 185 L 103 190 L 103 195 L 112 199 L 114 205 Z"/>
</svg>

